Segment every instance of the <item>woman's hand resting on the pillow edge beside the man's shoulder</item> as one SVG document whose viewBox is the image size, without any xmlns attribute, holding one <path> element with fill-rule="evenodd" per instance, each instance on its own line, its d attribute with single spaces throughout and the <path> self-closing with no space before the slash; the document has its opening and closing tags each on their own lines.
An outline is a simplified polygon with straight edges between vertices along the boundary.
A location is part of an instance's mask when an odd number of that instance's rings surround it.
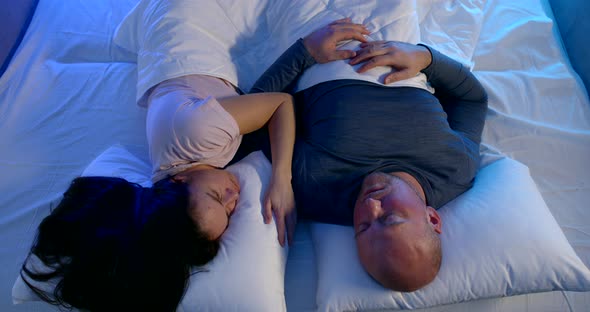
<svg viewBox="0 0 590 312">
<path fill-rule="evenodd" d="M 290 175 L 288 175 L 290 177 Z M 297 225 L 297 211 L 295 210 L 295 197 L 290 178 L 273 176 L 269 189 L 264 199 L 264 223 L 269 224 L 275 216 L 279 243 L 285 246 L 285 228 L 287 240 L 293 243 L 295 226 Z"/>
</svg>

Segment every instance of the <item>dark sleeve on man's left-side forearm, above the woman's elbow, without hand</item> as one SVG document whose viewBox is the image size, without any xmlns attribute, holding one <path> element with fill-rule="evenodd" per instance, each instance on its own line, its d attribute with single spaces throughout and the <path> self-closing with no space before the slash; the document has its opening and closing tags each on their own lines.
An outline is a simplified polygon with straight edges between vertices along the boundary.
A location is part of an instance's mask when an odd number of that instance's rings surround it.
<svg viewBox="0 0 590 312">
<path fill-rule="evenodd" d="M 299 39 L 258 78 L 250 93 L 288 92 L 299 75 L 315 63 Z"/>
</svg>

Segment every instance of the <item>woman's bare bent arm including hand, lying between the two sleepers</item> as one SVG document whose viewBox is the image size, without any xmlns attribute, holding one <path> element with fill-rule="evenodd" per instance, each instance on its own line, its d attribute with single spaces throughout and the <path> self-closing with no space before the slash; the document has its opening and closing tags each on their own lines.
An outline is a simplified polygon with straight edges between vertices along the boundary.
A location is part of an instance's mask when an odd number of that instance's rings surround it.
<svg viewBox="0 0 590 312">
<path fill-rule="evenodd" d="M 295 143 L 293 98 L 286 93 L 249 94 L 219 100 L 236 120 L 241 134 L 250 133 L 268 122 L 272 153 L 272 179 L 264 201 L 264 221 L 274 214 L 279 243 L 289 242 L 295 232 L 297 215 L 291 186 L 291 161 Z"/>
</svg>

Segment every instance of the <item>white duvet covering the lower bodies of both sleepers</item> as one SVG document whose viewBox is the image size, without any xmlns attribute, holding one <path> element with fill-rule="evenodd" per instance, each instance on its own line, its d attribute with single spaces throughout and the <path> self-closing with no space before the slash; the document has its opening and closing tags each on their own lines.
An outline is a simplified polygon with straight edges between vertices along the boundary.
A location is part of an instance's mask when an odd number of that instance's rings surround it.
<svg viewBox="0 0 590 312">
<path fill-rule="evenodd" d="M 417 0 L 369 5 L 315 0 L 140 0 L 117 27 L 113 41 L 137 54 L 136 100 L 144 105 L 151 87 L 189 74 L 223 78 L 247 91 L 298 38 L 347 16 L 371 27 L 370 40 L 424 42 L 472 65 L 482 7 L 483 3 L 445 6 Z M 421 35 L 420 29 L 427 33 Z M 357 45 L 353 41 L 343 48 L 355 49 Z M 390 72 L 388 67 L 380 67 L 358 74 L 354 68 L 358 65 L 351 67 L 345 61 L 316 64 L 301 77 L 298 89 L 342 78 L 380 83 Z M 391 86 L 432 91 L 422 74 Z"/>
</svg>

